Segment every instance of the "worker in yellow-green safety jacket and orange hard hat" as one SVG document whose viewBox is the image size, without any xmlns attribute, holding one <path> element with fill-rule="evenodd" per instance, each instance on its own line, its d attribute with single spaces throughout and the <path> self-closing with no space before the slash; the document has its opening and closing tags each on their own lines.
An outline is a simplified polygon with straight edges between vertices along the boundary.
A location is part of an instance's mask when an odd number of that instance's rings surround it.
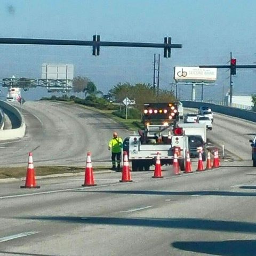
<svg viewBox="0 0 256 256">
<path fill-rule="evenodd" d="M 117 171 L 121 170 L 120 161 L 122 154 L 123 140 L 118 137 L 117 132 L 113 132 L 113 139 L 108 143 L 108 150 L 111 149 L 111 159 L 112 159 L 112 170 L 116 170 L 117 162 Z"/>
</svg>

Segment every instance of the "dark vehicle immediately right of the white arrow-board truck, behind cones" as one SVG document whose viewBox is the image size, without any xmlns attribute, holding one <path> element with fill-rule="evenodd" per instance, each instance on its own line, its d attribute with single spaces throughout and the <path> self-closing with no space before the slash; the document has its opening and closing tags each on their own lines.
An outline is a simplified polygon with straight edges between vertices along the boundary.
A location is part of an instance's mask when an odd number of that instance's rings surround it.
<svg viewBox="0 0 256 256">
<path fill-rule="evenodd" d="M 190 157 L 198 157 L 199 150 L 201 150 L 203 161 L 205 161 L 206 142 L 203 141 L 201 135 L 188 135 L 188 145 L 189 145 Z"/>
</svg>

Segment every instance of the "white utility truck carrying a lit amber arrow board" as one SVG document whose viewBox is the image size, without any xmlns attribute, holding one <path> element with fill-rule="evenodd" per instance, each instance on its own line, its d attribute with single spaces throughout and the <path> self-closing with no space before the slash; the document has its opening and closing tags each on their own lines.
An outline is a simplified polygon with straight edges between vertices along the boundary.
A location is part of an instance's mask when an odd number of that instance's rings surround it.
<svg viewBox="0 0 256 256">
<path fill-rule="evenodd" d="M 144 129 L 124 140 L 133 171 L 149 171 L 159 154 L 161 165 L 172 164 L 177 153 L 181 170 L 185 170 L 188 137 L 181 127 L 176 127 L 178 103 L 145 103 L 142 122 Z"/>
</svg>

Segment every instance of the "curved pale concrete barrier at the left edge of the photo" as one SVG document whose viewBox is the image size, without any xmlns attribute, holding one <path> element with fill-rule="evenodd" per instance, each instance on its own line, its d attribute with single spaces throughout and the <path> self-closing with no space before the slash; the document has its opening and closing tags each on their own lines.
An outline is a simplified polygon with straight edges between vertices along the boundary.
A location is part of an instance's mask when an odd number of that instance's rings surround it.
<svg viewBox="0 0 256 256">
<path fill-rule="evenodd" d="M 19 127 L 16 129 L 0 130 L 0 140 L 11 140 L 24 137 L 26 132 L 26 124 L 20 111 L 11 104 L 4 101 L 0 101 L 0 107 L 9 110 L 19 119 L 20 122 Z"/>
</svg>

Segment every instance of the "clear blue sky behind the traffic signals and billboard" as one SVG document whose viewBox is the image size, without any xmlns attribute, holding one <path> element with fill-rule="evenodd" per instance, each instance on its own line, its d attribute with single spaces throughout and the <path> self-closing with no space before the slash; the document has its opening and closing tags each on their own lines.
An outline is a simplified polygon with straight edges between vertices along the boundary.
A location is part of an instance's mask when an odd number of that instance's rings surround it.
<svg viewBox="0 0 256 256">
<path fill-rule="evenodd" d="M 226 65 L 230 52 L 238 65 L 255 64 L 255 13 L 252 0 L 2 0 L 0 37 L 91 40 L 98 33 L 102 41 L 162 43 L 169 35 L 182 49 L 164 59 L 162 49 L 101 47 L 94 57 L 90 46 L 0 45 L 0 77 L 39 78 L 43 62 L 73 63 L 75 76 L 107 92 L 118 82 L 152 83 L 154 53 L 160 53 L 160 86 L 170 89 L 174 66 Z M 218 70 L 217 85 L 205 90 L 205 98 L 221 100 L 228 76 Z M 233 78 L 235 94 L 256 93 L 256 71 L 239 69 Z M 190 86 L 179 91 L 181 99 L 190 98 Z"/>
</svg>

